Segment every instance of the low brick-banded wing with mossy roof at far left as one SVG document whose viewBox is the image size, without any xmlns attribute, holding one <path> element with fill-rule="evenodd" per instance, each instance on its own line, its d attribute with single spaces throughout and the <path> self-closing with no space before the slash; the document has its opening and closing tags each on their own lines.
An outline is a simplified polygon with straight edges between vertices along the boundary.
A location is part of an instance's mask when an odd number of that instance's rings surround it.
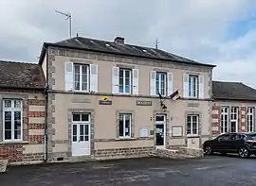
<svg viewBox="0 0 256 186">
<path fill-rule="evenodd" d="M 44 161 L 45 85 L 40 65 L 0 61 L 0 160 Z"/>
</svg>

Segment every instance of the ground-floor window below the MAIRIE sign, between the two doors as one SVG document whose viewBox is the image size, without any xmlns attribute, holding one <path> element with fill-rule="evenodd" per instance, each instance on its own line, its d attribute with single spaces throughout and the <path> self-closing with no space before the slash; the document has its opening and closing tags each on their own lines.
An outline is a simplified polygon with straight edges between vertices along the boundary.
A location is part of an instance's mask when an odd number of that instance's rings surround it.
<svg viewBox="0 0 256 186">
<path fill-rule="evenodd" d="M 119 138 L 130 138 L 132 127 L 132 114 L 119 113 Z"/>
</svg>

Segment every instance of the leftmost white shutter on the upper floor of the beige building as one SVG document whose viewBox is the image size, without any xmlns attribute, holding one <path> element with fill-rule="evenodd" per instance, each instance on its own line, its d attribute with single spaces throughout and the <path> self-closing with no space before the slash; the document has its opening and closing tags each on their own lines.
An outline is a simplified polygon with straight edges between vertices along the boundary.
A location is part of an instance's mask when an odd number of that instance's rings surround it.
<svg viewBox="0 0 256 186">
<path fill-rule="evenodd" d="M 64 90 L 72 91 L 74 87 L 73 82 L 73 62 L 66 61 L 64 62 Z"/>
</svg>

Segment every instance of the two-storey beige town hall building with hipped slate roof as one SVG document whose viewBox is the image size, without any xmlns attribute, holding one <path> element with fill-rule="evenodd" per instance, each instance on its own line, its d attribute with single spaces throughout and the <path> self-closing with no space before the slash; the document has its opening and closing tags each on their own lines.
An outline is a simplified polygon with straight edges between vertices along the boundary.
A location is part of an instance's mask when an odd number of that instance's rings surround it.
<svg viewBox="0 0 256 186">
<path fill-rule="evenodd" d="M 210 138 L 214 65 L 120 37 L 44 43 L 39 63 L 47 161 L 141 157 Z"/>
</svg>

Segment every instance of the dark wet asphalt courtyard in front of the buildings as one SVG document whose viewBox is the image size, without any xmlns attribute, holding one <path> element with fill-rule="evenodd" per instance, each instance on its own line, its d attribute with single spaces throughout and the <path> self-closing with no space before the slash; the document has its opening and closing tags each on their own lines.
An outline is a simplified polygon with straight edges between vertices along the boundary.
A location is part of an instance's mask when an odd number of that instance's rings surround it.
<svg viewBox="0 0 256 186">
<path fill-rule="evenodd" d="M 210 156 L 201 160 L 157 158 L 9 167 L 1 186 L 236 186 L 255 185 L 256 158 Z"/>
</svg>

